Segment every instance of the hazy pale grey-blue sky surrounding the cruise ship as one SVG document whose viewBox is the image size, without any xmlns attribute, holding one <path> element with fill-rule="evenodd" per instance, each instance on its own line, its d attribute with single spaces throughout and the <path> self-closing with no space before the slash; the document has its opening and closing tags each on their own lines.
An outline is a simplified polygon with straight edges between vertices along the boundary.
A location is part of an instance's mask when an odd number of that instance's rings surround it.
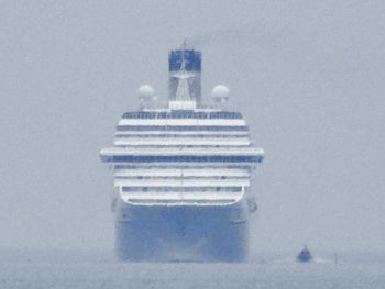
<svg viewBox="0 0 385 289">
<path fill-rule="evenodd" d="M 112 144 L 190 37 L 267 153 L 260 248 L 384 249 L 384 1 L 0 1 L 0 247 L 113 246 Z"/>
</svg>

